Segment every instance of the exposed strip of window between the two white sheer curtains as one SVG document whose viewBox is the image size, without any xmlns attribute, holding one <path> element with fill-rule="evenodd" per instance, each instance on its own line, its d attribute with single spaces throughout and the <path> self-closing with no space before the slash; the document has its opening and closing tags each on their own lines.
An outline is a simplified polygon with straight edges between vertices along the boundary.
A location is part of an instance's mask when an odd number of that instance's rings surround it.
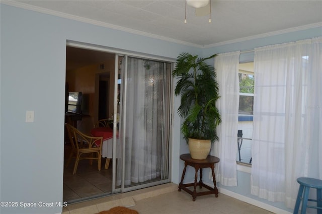
<svg viewBox="0 0 322 214">
<path fill-rule="evenodd" d="M 239 64 L 239 107 L 237 147 L 238 162 L 252 163 L 253 106 L 254 106 L 254 63 Z"/>
</svg>

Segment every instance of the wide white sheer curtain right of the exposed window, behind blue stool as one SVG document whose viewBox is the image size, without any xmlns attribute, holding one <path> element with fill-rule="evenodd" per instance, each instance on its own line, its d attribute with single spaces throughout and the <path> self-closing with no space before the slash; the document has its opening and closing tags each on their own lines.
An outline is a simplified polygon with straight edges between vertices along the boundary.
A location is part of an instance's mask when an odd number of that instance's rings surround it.
<svg viewBox="0 0 322 214">
<path fill-rule="evenodd" d="M 322 37 L 255 49 L 251 193 L 294 207 L 322 179 Z"/>
</svg>

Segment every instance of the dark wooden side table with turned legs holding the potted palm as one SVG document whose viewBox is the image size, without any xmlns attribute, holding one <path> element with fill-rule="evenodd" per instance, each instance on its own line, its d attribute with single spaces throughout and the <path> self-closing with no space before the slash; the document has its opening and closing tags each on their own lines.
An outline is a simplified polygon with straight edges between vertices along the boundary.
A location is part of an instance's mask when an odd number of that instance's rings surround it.
<svg viewBox="0 0 322 214">
<path fill-rule="evenodd" d="M 208 155 L 208 157 L 205 160 L 196 160 L 196 159 L 192 159 L 190 154 L 184 154 L 180 156 L 180 159 L 183 160 L 185 162 L 185 168 L 183 169 L 183 173 L 182 173 L 182 177 L 181 177 L 181 182 L 179 184 L 179 192 L 181 191 L 181 189 L 185 190 L 186 192 L 188 192 L 189 194 L 192 195 L 192 200 L 195 201 L 197 196 L 200 195 L 208 195 L 208 194 L 215 194 L 216 197 L 218 197 L 218 189 L 216 186 L 216 179 L 215 179 L 215 172 L 214 172 L 214 168 L 215 168 L 215 163 L 218 163 L 220 161 L 219 158 L 214 157 L 214 156 L 210 156 Z M 192 166 L 193 168 L 195 168 L 195 182 L 194 183 L 188 183 L 188 184 L 183 184 L 183 180 L 185 178 L 185 173 L 186 173 L 186 169 L 187 166 Z M 212 171 L 212 178 L 213 178 L 213 184 L 214 184 L 214 188 L 204 184 L 202 182 L 202 169 L 203 168 L 211 168 Z M 198 170 L 200 169 L 200 181 L 197 182 L 197 178 L 198 178 Z M 200 189 L 202 187 L 205 187 L 208 189 L 208 191 L 202 191 L 202 192 L 197 192 L 196 188 L 197 185 L 199 185 Z M 187 187 L 193 186 L 194 189 L 193 191 L 191 191 L 190 189 L 188 189 Z"/>
</svg>

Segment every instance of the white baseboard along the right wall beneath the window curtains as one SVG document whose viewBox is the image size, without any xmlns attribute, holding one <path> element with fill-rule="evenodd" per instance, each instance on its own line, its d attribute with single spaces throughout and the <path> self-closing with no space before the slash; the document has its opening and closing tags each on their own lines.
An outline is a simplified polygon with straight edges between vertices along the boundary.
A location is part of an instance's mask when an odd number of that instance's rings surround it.
<svg viewBox="0 0 322 214">
<path fill-rule="evenodd" d="M 208 183 L 206 183 L 206 184 L 213 187 L 213 184 L 212 185 L 211 184 L 208 184 Z M 244 201 L 246 203 L 252 204 L 254 206 L 258 206 L 258 207 L 260 207 L 262 209 L 266 209 L 266 210 L 268 210 L 270 212 L 273 212 L 273 213 L 278 213 L 278 214 L 292 214 L 291 212 L 286 211 L 284 209 L 280 209 L 280 208 L 278 208 L 276 206 L 272 206 L 270 204 L 263 203 L 261 201 L 255 200 L 255 199 L 250 198 L 250 197 L 246 197 L 244 195 L 241 195 L 241 194 L 238 194 L 238 193 L 229 191 L 229 190 L 224 189 L 224 188 L 218 187 L 218 192 L 220 192 L 222 194 L 225 194 L 225 195 L 228 195 L 230 197 L 236 198 L 238 200 Z"/>
</svg>

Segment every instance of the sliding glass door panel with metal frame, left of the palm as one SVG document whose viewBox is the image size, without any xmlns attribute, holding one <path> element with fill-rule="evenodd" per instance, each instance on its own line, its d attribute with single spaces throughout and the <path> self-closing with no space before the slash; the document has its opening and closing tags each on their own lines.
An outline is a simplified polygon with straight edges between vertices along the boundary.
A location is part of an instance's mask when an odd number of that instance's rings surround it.
<svg viewBox="0 0 322 214">
<path fill-rule="evenodd" d="M 169 182 L 171 63 L 124 56 L 120 73 L 116 188 Z"/>
</svg>

